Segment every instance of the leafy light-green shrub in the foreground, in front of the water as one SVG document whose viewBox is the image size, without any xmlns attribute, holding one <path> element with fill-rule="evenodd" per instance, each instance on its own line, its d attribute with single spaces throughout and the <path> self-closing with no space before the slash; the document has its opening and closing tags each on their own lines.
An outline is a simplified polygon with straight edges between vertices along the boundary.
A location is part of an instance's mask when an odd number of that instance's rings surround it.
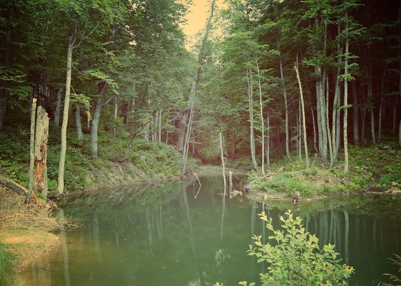
<svg viewBox="0 0 401 286">
<path fill-rule="evenodd" d="M 266 221 L 266 228 L 273 232 L 269 239 L 274 244 L 263 244 L 262 236 L 252 237 L 258 248 L 249 245 L 248 255 L 255 255 L 258 262 L 269 263 L 268 272 L 260 273 L 262 285 L 347 285 L 347 279 L 354 272 L 352 266 L 340 264 L 339 253 L 334 245 L 319 247 L 319 239 L 305 232 L 300 217 L 293 217 L 289 210 L 287 219 L 280 217 L 284 230 L 275 230 L 272 218 L 264 212 L 260 219 Z"/>
</svg>

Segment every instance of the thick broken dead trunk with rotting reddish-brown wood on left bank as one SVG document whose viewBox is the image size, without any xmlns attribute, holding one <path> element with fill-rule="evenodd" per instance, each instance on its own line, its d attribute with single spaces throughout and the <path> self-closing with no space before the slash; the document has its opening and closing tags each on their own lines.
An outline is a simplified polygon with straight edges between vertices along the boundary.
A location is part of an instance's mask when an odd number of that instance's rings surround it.
<svg viewBox="0 0 401 286">
<path fill-rule="evenodd" d="M 33 187 L 37 193 L 47 197 L 47 137 L 49 134 L 49 117 L 46 110 L 39 106 L 37 110 L 35 131 L 35 170 Z"/>
</svg>

